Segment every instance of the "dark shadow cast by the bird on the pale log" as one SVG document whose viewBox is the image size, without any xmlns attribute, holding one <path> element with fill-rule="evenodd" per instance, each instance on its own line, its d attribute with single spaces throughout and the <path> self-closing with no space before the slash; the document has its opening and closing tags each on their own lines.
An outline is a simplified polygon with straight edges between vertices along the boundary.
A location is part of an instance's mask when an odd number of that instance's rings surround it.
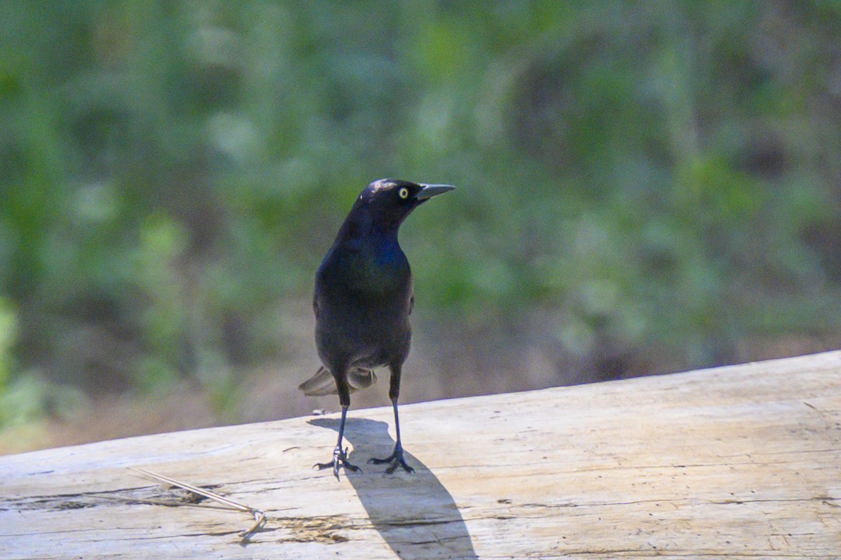
<svg viewBox="0 0 841 560">
<path fill-rule="evenodd" d="M 337 419 L 316 418 L 309 423 L 339 430 Z M 353 446 L 348 461 L 362 472 L 343 471 L 342 478 L 356 489 L 368 518 L 398 557 L 477 558 L 455 500 L 425 464 L 405 449 L 404 457 L 414 473 L 398 469 L 385 474 L 384 465 L 368 464 L 369 458 L 385 457 L 394 449 L 388 423 L 348 418 L 345 439 Z"/>
</svg>

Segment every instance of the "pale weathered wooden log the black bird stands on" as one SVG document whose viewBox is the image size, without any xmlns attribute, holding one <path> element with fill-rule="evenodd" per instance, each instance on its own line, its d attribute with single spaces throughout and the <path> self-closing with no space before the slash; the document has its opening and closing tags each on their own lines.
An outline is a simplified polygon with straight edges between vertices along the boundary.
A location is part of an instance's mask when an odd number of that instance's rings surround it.
<svg viewBox="0 0 841 560">
<path fill-rule="evenodd" d="M 841 557 L 838 352 L 350 416 L 0 457 L 0 558 Z"/>
</svg>

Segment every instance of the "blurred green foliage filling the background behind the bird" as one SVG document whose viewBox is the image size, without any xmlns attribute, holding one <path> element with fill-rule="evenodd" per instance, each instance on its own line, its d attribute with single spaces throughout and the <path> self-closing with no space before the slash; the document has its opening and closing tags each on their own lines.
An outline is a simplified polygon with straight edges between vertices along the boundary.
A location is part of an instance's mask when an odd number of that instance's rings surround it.
<svg viewBox="0 0 841 560">
<path fill-rule="evenodd" d="M 830 0 L 6 3 L 0 393 L 225 400 L 383 176 L 459 187 L 402 238 L 450 324 L 655 369 L 832 332 L 839 52 Z"/>
</svg>

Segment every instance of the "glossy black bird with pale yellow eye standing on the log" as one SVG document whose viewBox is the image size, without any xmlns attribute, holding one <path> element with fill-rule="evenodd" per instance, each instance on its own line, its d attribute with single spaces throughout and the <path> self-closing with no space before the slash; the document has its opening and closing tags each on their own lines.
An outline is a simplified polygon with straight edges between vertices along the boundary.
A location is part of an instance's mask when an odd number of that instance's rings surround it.
<svg viewBox="0 0 841 560">
<path fill-rule="evenodd" d="M 339 441 L 329 463 L 318 468 L 359 468 L 347 461 L 341 440 L 351 393 L 373 385 L 373 370 L 389 366 L 389 398 L 394 406 L 397 442 L 389 457 L 370 463 L 388 463 L 386 473 L 402 467 L 414 469 L 403 458 L 397 397 L 400 371 L 409 355 L 409 315 L 415 303 L 409 260 L 397 242 L 400 224 L 415 207 L 432 196 L 452 191 L 449 185 L 424 185 L 380 179 L 367 187 L 353 204 L 336 241 L 315 273 L 315 347 L 322 367 L 299 386 L 305 395 L 335 395 L 341 404 Z"/>
</svg>

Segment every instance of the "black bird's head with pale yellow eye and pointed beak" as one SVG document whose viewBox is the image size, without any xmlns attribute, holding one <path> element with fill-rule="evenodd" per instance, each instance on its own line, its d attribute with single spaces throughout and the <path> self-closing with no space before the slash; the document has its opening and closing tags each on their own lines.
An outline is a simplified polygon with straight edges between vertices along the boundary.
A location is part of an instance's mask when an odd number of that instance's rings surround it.
<svg viewBox="0 0 841 560">
<path fill-rule="evenodd" d="M 359 194 L 348 218 L 357 227 L 377 231 L 396 231 L 416 207 L 432 196 L 452 191 L 450 185 L 427 185 L 396 179 L 373 181 Z"/>
</svg>

